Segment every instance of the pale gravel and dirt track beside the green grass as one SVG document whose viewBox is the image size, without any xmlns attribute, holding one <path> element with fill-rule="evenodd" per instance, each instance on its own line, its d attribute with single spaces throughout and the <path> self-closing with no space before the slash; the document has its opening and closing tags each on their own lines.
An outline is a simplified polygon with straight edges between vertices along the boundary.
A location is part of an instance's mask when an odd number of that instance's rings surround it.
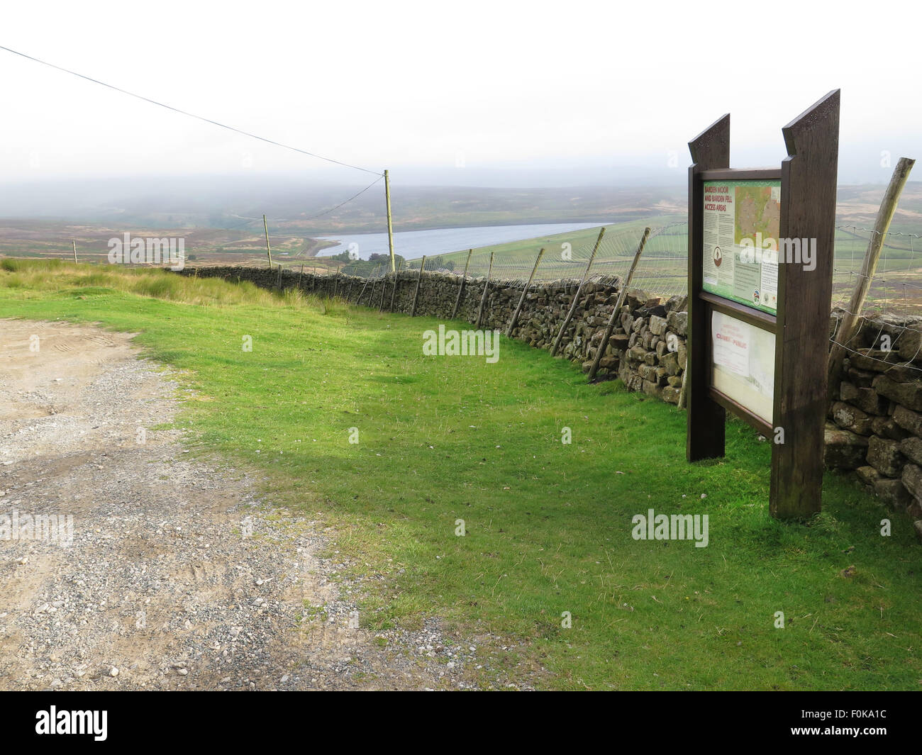
<svg viewBox="0 0 922 755">
<path fill-rule="evenodd" d="M 153 430 L 181 389 L 136 353 L 124 334 L 0 320 L 0 689 L 483 677 L 485 648 L 435 621 L 356 628 L 362 585 L 317 557 L 322 525 L 260 500 L 241 471 L 191 459 L 182 431 Z"/>
</svg>

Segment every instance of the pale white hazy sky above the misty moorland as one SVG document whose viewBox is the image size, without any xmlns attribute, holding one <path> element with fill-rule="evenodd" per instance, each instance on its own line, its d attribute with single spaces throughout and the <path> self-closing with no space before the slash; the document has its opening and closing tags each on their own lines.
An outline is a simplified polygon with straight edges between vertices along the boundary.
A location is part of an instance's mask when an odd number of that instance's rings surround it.
<svg viewBox="0 0 922 755">
<path fill-rule="evenodd" d="M 893 162 L 922 157 L 918 53 L 898 39 L 920 15 L 904 3 L 804 0 L 39 0 L 6 4 L 0 44 L 436 183 L 492 169 L 547 171 L 548 184 L 610 170 L 618 183 L 625 165 L 683 180 L 688 141 L 724 112 L 733 166 L 774 164 L 785 155 L 781 126 L 842 88 L 840 181 L 884 181 L 881 151 Z M 0 181 L 246 171 L 372 180 L 4 51 L 0 81 Z"/>
</svg>

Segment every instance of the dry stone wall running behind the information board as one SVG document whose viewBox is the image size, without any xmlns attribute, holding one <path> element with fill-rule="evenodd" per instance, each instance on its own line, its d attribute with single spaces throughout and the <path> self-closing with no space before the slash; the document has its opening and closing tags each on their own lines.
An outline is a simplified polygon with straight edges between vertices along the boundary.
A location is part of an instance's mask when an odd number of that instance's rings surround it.
<svg viewBox="0 0 922 755">
<path fill-rule="evenodd" d="M 300 288 L 361 304 L 410 313 L 418 274 L 366 281 L 361 277 L 303 275 L 254 267 L 187 267 L 182 275 L 249 280 L 256 286 Z M 416 313 L 448 320 L 461 278 L 442 273 L 422 277 Z M 367 284 L 367 285 L 366 285 Z M 475 323 L 485 281 L 467 280 L 457 319 Z M 550 349 L 573 303 L 578 281 L 533 285 L 512 336 Z M 573 319 L 561 339 L 561 355 L 584 371 L 596 356 L 620 293 L 620 281 L 586 284 Z M 505 333 L 522 294 L 521 284 L 491 281 L 481 327 Z M 632 391 L 678 404 L 687 352 L 687 300 L 664 300 L 630 289 L 599 362 L 598 374 L 618 377 Z M 833 313 L 830 334 L 841 313 Z M 826 426 L 825 458 L 831 468 L 854 470 L 857 478 L 893 509 L 922 520 L 922 318 L 869 318 L 858 339 L 861 348 L 845 360 L 842 383 L 833 389 Z M 887 336 L 890 350 L 881 348 Z M 916 521 L 922 536 L 922 521 Z"/>
</svg>

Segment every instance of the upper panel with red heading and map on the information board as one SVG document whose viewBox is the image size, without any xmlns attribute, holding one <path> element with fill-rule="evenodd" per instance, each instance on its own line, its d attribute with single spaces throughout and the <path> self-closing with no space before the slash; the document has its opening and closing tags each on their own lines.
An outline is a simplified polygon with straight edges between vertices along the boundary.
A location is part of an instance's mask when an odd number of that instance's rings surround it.
<svg viewBox="0 0 922 755">
<path fill-rule="evenodd" d="M 703 289 L 774 314 L 780 181 L 704 183 Z"/>
</svg>

